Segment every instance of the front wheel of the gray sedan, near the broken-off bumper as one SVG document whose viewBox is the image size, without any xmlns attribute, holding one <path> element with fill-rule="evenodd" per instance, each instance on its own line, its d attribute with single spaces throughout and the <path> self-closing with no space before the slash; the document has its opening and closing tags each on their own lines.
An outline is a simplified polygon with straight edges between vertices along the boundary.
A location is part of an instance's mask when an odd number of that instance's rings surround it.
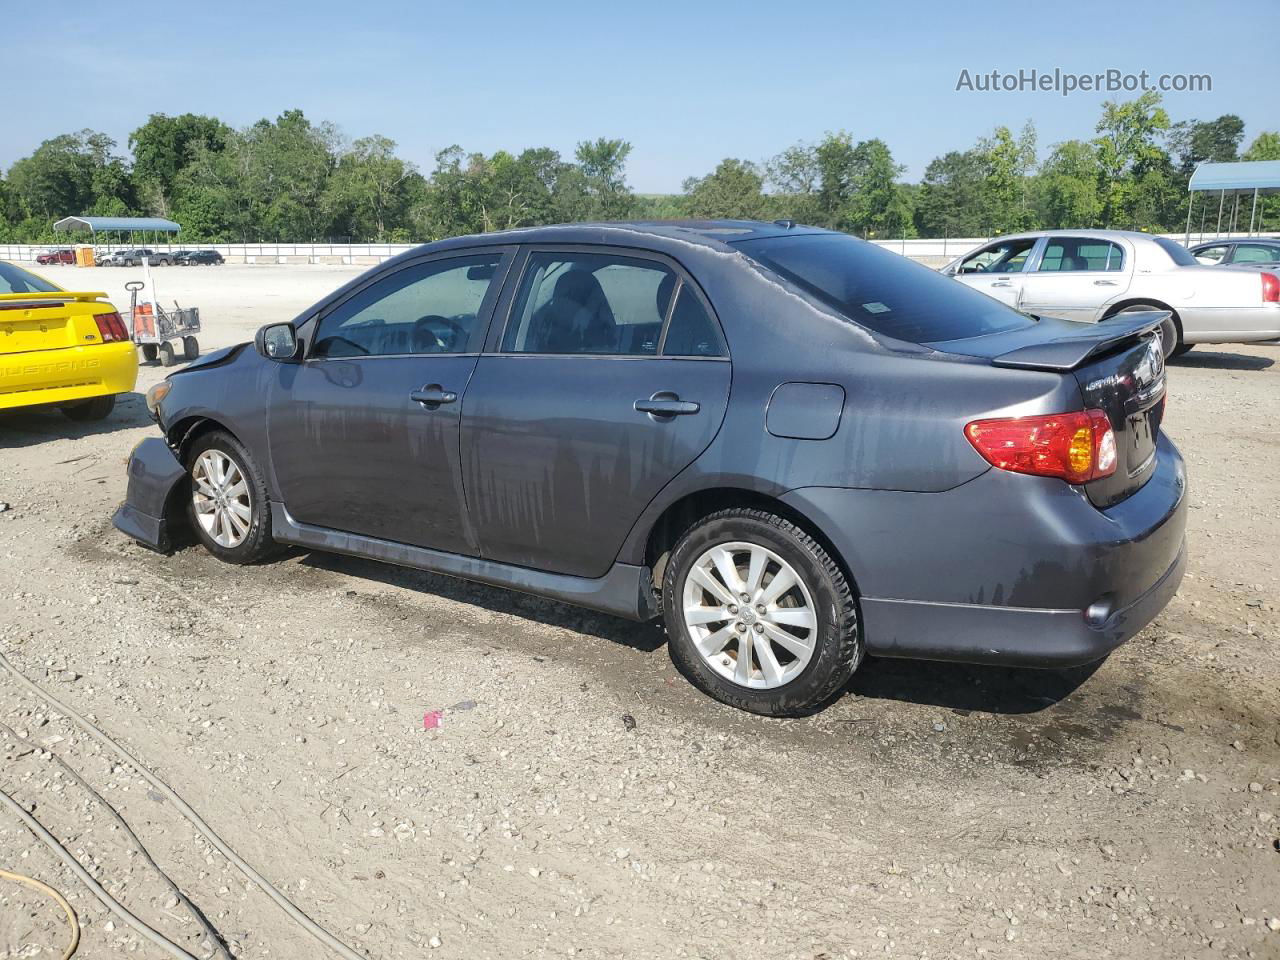
<svg viewBox="0 0 1280 960">
<path fill-rule="evenodd" d="M 244 445 L 223 430 L 187 453 L 187 517 L 205 549 L 225 563 L 256 563 L 275 552 L 266 480 Z"/>
</svg>

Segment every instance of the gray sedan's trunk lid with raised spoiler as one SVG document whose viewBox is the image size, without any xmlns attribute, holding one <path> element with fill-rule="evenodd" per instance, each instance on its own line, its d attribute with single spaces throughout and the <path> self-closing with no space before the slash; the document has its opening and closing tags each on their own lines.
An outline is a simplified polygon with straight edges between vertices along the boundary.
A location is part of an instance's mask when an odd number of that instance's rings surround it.
<svg viewBox="0 0 1280 960">
<path fill-rule="evenodd" d="M 1165 355 L 1156 330 L 1167 316 L 1124 314 L 1100 324 L 1044 317 L 1018 330 L 929 346 L 993 366 L 1071 376 L 1084 408 L 1106 412 L 1115 433 L 1115 472 L 1084 485 L 1089 502 L 1101 509 L 1142 488 L 1156 470 L 1165 411 Z"/>
</svg>

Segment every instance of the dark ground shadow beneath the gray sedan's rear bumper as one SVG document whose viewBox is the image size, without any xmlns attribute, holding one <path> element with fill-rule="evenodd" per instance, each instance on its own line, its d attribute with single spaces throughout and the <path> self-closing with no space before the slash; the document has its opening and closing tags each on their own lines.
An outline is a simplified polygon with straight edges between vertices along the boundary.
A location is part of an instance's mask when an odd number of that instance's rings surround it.
<svg viewBox="0 0 1280 960">
<path fill-rule="evenodd" d="M 1074 694 L 1105 660 L 1065 669 L 1028 669 L 873 657 L 846 694 L 975 713 L 1039 713 Z"/>
</svg>

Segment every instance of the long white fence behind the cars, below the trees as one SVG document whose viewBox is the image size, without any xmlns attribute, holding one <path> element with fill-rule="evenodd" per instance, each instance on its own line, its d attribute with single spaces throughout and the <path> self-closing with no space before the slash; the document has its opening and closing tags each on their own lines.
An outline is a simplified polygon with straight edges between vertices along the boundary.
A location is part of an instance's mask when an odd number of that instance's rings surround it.
<svg viewBox="0 0 1280 960">
<path fill-rule="evenodd" d="M 1165 237 L 1183 241 L 1180 233 Z M 1206 234 L 1206 238 L 1210 238 Z M 1226 234 L 1222 239 L 1226 239 Z M 1236 234 L 1235 238 L 1244 238 Z M 877 239 L 882 247 L 911 260 L 941 266 L 952 257 L 986 243 L 987 237 L 947 237 L 942 239 Z M 1196 242 L 1201 238 L 1193 237 Z M 50 248 L 49 243 L 0 243 L 0 260 L 35 261 L 38 253 Z M 122 250 L 129 244 L 99 244 L 97 250 Z M 137 244 L 155 251 L 216 250 L 229 264 L 357 264 L 371 265 L 389 260 L 419 246 L 416 243 L 151 243 Z"/>
</svg>

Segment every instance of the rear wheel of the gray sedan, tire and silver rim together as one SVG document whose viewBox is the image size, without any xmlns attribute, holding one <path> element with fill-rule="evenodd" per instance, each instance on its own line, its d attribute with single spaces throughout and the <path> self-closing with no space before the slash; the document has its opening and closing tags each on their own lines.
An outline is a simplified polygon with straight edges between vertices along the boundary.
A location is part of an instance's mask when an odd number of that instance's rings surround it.
<svg viewBox="0 0 1280 960">
<path fill-rule="evenodd" d="M 663 575 L 671 659 L 703 692 L 769 717 L 824 707 L 861 663 L 854 590 L 813 536 L 762 509 L 713 513 Z"/>
</svg>

